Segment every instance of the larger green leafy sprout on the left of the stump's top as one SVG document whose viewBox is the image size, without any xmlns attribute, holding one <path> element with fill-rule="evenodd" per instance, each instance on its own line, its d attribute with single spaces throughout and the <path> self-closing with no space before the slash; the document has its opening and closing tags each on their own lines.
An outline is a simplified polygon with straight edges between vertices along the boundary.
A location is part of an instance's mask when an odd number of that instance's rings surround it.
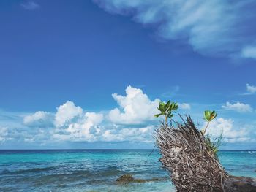
<svg viewBox="0 0 256 192">
<path fill-rule="evenodd" d="M 168 118 L 173 117 L 173 111 L 178 110 L 178 104 L 176 102 L 170 102 L 170 100 L 167 101 L 167 103 L 160 101 L 159 107 L 157 107 L 157 109 L 160 111 L 160 113 L 154 116 L 156 118 L 158 118 L 161 115 L 165 116 L 165 124 L 167 125 Z"/>
</svg>

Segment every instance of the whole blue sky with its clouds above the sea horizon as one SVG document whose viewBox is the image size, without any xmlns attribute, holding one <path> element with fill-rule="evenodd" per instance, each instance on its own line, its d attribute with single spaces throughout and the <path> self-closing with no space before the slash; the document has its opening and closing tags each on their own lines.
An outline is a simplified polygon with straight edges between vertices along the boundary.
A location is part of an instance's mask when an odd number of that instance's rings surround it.
<svg viewBox="0 0 256 192">
<path fill-rule="evenodd" d="M 176 101 L 256 150 L 256 2 L 0 1 L 0 149 L 151 149 Z"/>
</svg>

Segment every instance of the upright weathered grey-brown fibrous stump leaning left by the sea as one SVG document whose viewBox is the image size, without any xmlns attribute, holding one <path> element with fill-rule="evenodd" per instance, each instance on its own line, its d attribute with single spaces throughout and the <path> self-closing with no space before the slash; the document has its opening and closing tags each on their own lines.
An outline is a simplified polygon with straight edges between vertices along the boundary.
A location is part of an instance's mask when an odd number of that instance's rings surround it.
<svg viewBox="0 0 256 192">
<path fill-rule="evenodd" d="M 182 119 L 182 118 L 181 118 Z M 183 119 L 182 119 L 183 120 Z M 228 174 L 207 150 L 205 138 L 187 116 L 177 127 L 162 123 L 155 133 L 156 145 L 162 154 L 160 161 L 170 172 L 178 192 L 225 191 Z"/>
</svg>

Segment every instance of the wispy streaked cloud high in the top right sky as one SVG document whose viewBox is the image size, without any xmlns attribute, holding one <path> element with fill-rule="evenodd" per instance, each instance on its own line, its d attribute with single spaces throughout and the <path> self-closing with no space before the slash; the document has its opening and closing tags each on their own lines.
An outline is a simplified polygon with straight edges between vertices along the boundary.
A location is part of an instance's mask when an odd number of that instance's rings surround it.
<svg viewBox="0 0 256 192">
<path fill-rule="evenodd" d="M 107 12 L 129 15 L 142 24 L 154 24 L 165 39 L 187 42 L 204 55 L 241 55 L 255 58 L 252 23 L 255 1 L 222 0 L 94 0 Z M 254 32 L 253 32 L 254 31 Z"/>
</svg>

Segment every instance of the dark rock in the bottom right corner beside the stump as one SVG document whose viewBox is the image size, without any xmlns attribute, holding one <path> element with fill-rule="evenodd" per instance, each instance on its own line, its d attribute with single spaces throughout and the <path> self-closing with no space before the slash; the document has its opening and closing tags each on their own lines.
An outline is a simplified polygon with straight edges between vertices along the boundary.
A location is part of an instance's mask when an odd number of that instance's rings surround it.
<svg viewBox="0 0 256 192">
<path fill-rule="evenodd" d="M 225 192 L 256 192 L 256 180 L 251 177 L 230 176 L 225 180 Z"/>
</svg>

